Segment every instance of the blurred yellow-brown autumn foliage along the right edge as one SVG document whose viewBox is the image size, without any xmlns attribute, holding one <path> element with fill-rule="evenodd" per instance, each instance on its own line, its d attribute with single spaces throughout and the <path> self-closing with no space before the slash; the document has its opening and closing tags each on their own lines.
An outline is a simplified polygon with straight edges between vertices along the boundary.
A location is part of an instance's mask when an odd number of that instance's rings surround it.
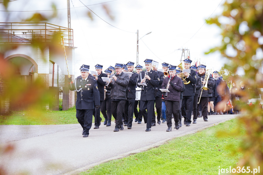
<svg viewBox="0 0 263 175">
<path fill-rule="evenodd" d="M 236 150 L 243 154 L 238 166 L 263 167 L 262 107 L 258 105 L 259 101 L 252 106 L 246 104 L 248 99 L 257 96 L 259 88 L 263 88 L 263 78 L 260 73 L 263 65 L 263 1 L 227 0 L 223 6 L 221 15 L 207 21 L 208 24 L 216 24 L 222 31 L 221 46 L 212 48 L 208 53 L 220 51 L 221 55 L 229 60 L 224 68 L 235 73 L 232 79 L 236 82 L 243 81 L 245 86 L 251 88 L 249 93 L 239 92 L 243 103 L 239 104 L 242 116 L 239 117 L 237 127 L 245 126 L 246 135 Z M 237 75 L 240 70 L 244 71 L 243 76 Z M 221 133 L 221 136 L 240 135 L 238 130 L 240 128 L 234 133 Z"/>
</svg>

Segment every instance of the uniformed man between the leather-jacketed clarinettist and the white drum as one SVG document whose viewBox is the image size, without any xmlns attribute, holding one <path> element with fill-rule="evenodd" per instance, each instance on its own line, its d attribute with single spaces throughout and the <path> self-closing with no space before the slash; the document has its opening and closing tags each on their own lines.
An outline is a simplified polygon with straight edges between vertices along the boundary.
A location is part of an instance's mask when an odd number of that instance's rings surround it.
<svg viewBox="0 0 263 175">
<path fill-rule="evenodd" d="M 129 61 L 127 64 L 128 72 L 132 72 L 132 75 L 130 77 L 130 82 L 128 84 L 128 91 L 127 91 L 127 100 L 125 104 L 124 110 L 124 123 L 127 122 L 128 129 L 131 129 L 132 122 L 133 122 L 133 112 L 134 112 L 134 103 L 136 98 L 136 84 L 138 80 L 138 74 L 133 72 L 133 65 L 134 63 Z M 124 124 L 125 126 L 125 124 Z"/>
</svg>

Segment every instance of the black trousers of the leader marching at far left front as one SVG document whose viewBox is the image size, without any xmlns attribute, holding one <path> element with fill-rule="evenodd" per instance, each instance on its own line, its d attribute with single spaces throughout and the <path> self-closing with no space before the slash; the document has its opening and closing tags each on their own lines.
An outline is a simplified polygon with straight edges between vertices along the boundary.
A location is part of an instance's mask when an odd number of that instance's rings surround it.
<svg viewBox="0 0 263 175">
<path fill-rule="evenodd" d="M 92 125 L 93 109 L 76 109 L 76 118 L 83 128 L 83 134 L 89 135 Z"/>
</svg>

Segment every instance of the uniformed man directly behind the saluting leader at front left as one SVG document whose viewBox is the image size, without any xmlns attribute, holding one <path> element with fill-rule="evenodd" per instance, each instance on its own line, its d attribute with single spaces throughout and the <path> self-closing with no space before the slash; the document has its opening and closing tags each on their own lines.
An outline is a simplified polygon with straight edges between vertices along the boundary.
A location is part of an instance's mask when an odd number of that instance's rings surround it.
<svg viewBox="0 0 263 175">
<path fill-rule="evenodd" d="M 106 83 L 102 80 L 101 77 L 107 77 L 107 74 L 104 74 L 102 73 L 102 65 L 95 65 L 95 69 L 96 71 L 98 72 L 98 76 L 95 76 L 95 79 L 97 80 L 97 83 L 98 83 L 98 90 L 100 92 L 100 106 L 101 106 L 101 103 L 104 101 L 104 86 L 106 85 Z M 101 125 L 101 117 L 100 117 L 100 113 L 101 110 L 100 108 L 97 109 L 95 108 L 94 111 L 93 111 L 93 115 L 94 115 L 94 129 L 98 129 L 99 126 Z M 104 121 L 104 125 L 107 124 L 107 121 L 108 121 L 108 118 L 105 117 L 105 121 Z"/>
</svg>

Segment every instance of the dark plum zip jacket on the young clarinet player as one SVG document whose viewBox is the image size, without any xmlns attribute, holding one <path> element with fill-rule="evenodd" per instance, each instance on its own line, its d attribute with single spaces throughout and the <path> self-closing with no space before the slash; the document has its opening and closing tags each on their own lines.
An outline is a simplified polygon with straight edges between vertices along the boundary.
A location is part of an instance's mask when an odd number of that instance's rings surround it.
<svg viewBox="0 0 263 175">
<path fill-rule="evenodd" d="M 168 81 L 169 81 L 170 75 L 165 77 L 165 79 L 162 82 L 162 89 L 166 89 Z M 171 100 L 171 101 L 180 101 L 180 93 L 183 91 L 183 82 L 182 79 L 174 76 L 170 80 L 172 82 L 172 85 L 169 85 L 168 90 L 170 91 L 167 93 L 167 97 L 164 96 L 164 100 Z"/>
</svg>

